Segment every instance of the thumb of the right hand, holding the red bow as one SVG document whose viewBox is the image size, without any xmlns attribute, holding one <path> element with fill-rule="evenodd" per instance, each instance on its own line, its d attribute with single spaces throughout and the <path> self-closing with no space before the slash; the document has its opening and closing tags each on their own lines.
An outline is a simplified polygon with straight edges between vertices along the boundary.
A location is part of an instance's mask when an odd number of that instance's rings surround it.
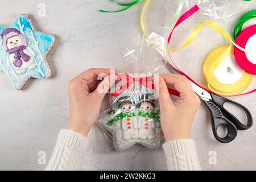
<svg viewBox="0 0 256 182">
<path fill-rule="evenodd" d="M 158 80 L 159 80 L 159 82 L 156 83 L 155 79 L 154 79 L 154 84 L 155 84 L 156 90 L 158 92 L 159 104 L 160 104 L 161 108 L 166 108 L 167 105 L 170 105 L 173 102 L 171 100 L 171 97 L 168 92 L 168 88 L 167 88 L 167 85 L 166 85 L 166 82 L 164 81 L 164 79 L 161 76 L 159 76 Z"/>
</svg>

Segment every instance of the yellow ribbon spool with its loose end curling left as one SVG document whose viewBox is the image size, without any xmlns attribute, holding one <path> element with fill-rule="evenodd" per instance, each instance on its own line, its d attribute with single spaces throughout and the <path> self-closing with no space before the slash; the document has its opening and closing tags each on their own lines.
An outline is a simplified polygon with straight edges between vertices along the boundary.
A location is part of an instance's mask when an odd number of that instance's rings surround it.
<svg viewBox="0 0 256 182">
<path fill-rule="evenodd" d="M 208 82 L 208 88 L 212 92 L 220 94 L 222 96 L 231 96 L 234 94 L 242 93 L 250 86 L 251 82 L 253 81 L 253 75 L 250 75 L 249 73 L 246 73 L 245 71 L 243 71 L 241 79 L 234 84 L 222 84 L 214 76 L 214 70 L 216 70 L 223 63 L 223 61 L 225 61 L 225 59 L 228 56 L 233 55 L 233 48 L 232 48 L 232 41 L 231 41 L 232 38 L 228 34 L 228 32 L 226 32 L 224 28 L 222 28 L 218 24 L 214 22 L 204 22 L 197 25 L 193 29 L 193 31 L 191 32 L 191 35 L 189 35 L 189 38 L 183 44 L 183 46 L 181 46 L 178 49 L 167 49 L 167 51 L 176 52 L 176 51 L 179 51 L 180 49 L 187 47 L 191 42 L 193 42 L 193 40 L 201 31 L 201 28 L 203 28 L 203 26 L 208 26 L 213 30 L 217 31 L 229 42 L 229 46 L 224 46 L 224 47 L 214 49 L 212 52 L 209 53 L 209 55 L 205 59 L 204 76 Z"/>
</svg>

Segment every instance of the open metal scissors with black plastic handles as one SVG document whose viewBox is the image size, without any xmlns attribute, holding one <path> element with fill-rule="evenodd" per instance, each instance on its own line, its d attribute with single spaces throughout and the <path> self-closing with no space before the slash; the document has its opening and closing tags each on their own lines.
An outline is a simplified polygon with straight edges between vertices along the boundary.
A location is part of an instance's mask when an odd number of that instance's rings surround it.
<svg viewBox="0 0 256 182">
<path fill-rule="evenodd" d="M 213 135 L 219 142 L 229 143 L 237 137 L 237 130 L 247 130 L 253 125 L 253 117 L 251 116 L 250 111 L 245 106 L 229 100 L 228 98 L 209 93 L 194 84 L 193 82 L 191 82 L 191 86 L 195 93 L 199 97 L 201 97 L 205 105 L 207 105 L 210 109 L 212 113 Z M 232 103 L 233 105 L 236 105 L 244 111 L 247 118 L 246 125 L 243 125 L 243 123 L 239 121 L 239 119 L 237 119 L 232 113 L 224 108 L 224 104 L 226 102 Z M 217 128 L 221 125 L 227 129 L 227 134 L 225 137 L 220 137 L 217 134 Z"/>
</svg>

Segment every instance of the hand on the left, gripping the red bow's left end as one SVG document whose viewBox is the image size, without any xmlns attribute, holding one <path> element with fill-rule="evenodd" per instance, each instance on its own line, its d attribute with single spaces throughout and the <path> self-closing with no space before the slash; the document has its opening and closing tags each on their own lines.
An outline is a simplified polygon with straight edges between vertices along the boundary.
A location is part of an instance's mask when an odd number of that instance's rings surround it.
<svg viewBox="0 0 256 182">
<path fill-rule="evenodd" d="M 69 130 L 88 135 L 90 128 L 97 121 L 105 94 L 115 82 L 115 69 L 91 68 L 68 82 Z M 105 76 L 98 80 L 98 76 Z"/>
</svg>

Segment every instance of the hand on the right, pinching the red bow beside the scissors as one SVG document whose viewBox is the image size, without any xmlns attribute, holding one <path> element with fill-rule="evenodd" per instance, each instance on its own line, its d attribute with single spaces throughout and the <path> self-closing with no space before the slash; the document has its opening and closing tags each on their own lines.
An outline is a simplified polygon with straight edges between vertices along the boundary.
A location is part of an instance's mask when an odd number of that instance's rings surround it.
<svg viewBox="0 0 256 182">
<path fill-rule="evenodd" d="M 180 100 L 171 99 L 167 84 L 173 85 L 180 93 Z M 166 141 L 189 138 L 191 125 L 200 103 L 199 97 L 185 76 L 174 74 L 159 76 L 160 118 Z"/>
</svg>

